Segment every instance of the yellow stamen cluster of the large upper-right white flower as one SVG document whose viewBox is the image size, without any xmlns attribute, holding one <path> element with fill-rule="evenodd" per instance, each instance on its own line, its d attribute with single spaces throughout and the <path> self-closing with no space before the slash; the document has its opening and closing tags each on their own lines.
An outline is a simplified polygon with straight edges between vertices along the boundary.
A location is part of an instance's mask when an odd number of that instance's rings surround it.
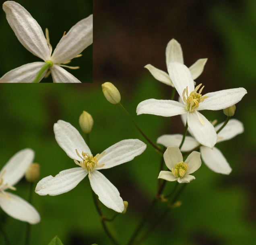
<svg viewBox="0 0 256 245">
<path fill-rule="evenodd" d="M 183 101 L 185 102 L 185 108 L 188 112 L 193 112 L 194 110 L 196 110 L 196 108 L 199 107 L 199 103 L 203 102 L 206 98 L 208 98 L 208 96 L 202 96 L 201 94 L 204 86 L 202 86 L 202 88 L 199 90 L 199 93 L 197 92 L 201 85 L 202 84 L 196 86 L 195 90 L 192 91 L 189 96 L 188 87 L 186 87 L 182 93 Z M 185 97 L 185 94 L 187 98 Z"/>
</svg>

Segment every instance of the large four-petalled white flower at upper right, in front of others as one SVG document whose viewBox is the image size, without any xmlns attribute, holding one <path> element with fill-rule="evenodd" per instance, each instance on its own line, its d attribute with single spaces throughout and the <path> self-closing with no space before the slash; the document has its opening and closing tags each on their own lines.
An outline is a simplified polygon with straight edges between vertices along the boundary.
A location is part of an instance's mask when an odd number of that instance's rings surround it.
<svg viewBox="0 0 256 245">
<path fill-rule="evenodd" d="M 178 62 L 169 63 L 169 76 L 181 98 L 174 100 L 149 99 L 140 102 L 137 114 L 153 114 L 158 116 L 175 116 L 186 114 L 188 128 L 196 140 L 211 149 L 217 142 L 217 134 L 200 110 L 221 110 L 239 102 L 247 91 L 244 88 L 233 88 L 201 95 L 202 84 L 194 87 L 192 75 L 185 65 Z"/>
</svg>

